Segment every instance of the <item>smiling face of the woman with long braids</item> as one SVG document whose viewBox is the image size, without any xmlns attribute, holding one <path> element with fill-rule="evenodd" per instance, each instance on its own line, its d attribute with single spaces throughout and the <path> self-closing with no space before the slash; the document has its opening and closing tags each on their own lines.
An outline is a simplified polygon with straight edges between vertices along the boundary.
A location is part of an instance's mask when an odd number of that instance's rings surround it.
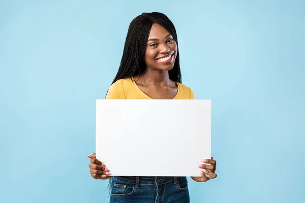
<svg viewBox="0 0 305 203">
<path fill-rule="evenodd" d="M 153 24 L 144 57 L 146 67 L 155 71 L 169 71 L 174 66 L 176 56 L 177 44 L 173 36 L 161 25 Z"/>
</svg>

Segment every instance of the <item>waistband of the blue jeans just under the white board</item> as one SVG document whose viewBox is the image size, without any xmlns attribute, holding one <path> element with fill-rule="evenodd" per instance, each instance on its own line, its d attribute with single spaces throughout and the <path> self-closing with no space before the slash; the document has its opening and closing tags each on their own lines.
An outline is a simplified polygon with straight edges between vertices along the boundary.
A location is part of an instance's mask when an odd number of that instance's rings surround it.
<svg viewBox="0 0 305 203">
<path fill-rule="evenodd" d="M 170 182 L 176 183 L 178 178 L 186 177 L 113 176 L 112 178 L 119 182 L 135 185 L 162 185 Z"/>
</svg>

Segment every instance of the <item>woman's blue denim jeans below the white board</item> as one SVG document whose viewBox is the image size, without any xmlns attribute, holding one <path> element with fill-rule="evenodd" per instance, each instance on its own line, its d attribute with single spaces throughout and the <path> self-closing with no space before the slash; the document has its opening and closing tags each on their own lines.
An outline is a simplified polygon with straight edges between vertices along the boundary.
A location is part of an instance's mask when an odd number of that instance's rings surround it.
<svg viewBox="0 0 305 203">
<path fill-rule="evenodd" d="M 110 202 L 189 203 L 186 177 L 113 176 L 110 182 Z"/>
</svg>

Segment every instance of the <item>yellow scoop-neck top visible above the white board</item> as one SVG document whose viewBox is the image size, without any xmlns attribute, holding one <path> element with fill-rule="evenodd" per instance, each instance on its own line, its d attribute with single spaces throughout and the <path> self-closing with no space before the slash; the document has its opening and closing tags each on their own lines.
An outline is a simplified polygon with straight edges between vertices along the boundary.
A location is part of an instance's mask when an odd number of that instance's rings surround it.
<svg viewBox="0 0 305 203">
<path fill-rule="evenodd" d="M 186 85 L 176 82 L 178 92 L 173 99 L 195 99 L 194 92 Z M 108 90 L 106 99 L 152 99 L 147 96 L 134 80 L 120 79 L 113 83 Z"/>
</svg>

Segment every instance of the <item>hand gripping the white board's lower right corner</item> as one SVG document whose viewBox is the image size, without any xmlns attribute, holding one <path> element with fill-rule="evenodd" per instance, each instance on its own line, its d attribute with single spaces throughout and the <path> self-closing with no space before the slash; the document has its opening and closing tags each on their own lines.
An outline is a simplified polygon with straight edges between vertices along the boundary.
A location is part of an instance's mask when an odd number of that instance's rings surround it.
<svg viewBox="0 0 305 203">
<path fill-rule="evenodd" d="M 191 178 L 196 182 L 206 182 L 210 179 L 216 178 L 217 177 L 217 174 L 215 174 L 216 160 L 214 160 L 212 157 L 211 159 L 203 159 L 201 161 L 204 163 L 210 163 L 211 165 L 198 164 L 198 167 L 201 168 L 200 170 L 201 177 L 191 177 Z M 210 177 L 206 177 L 205 174 L 209 175 Z"/>
</svg>

